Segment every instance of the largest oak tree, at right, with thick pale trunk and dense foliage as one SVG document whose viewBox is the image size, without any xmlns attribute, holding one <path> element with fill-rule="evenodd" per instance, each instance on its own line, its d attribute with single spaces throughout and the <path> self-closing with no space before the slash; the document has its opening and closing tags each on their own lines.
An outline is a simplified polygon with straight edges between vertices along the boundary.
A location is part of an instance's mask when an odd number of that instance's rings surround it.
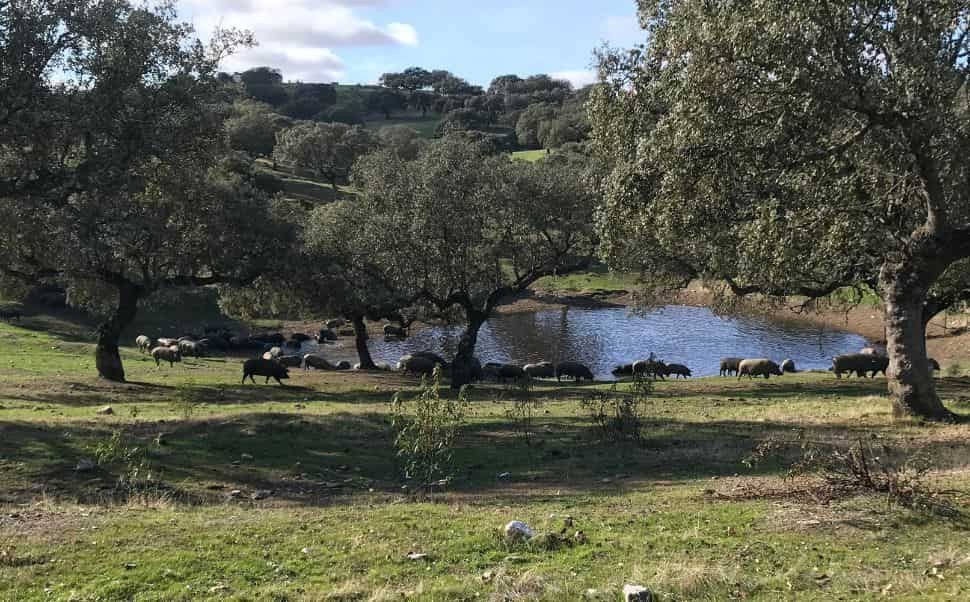
<svg viewBox="0 0 970 602">
<path fill-rule="evenodd" d="M 970 7 L 934 0 L 640 0 L 606 52 L 596 146 L 617 267 L 738 294 L 885 303 L 896 416 L 952 419 L 925 325 L 966 298 Z"/>
</svg>

